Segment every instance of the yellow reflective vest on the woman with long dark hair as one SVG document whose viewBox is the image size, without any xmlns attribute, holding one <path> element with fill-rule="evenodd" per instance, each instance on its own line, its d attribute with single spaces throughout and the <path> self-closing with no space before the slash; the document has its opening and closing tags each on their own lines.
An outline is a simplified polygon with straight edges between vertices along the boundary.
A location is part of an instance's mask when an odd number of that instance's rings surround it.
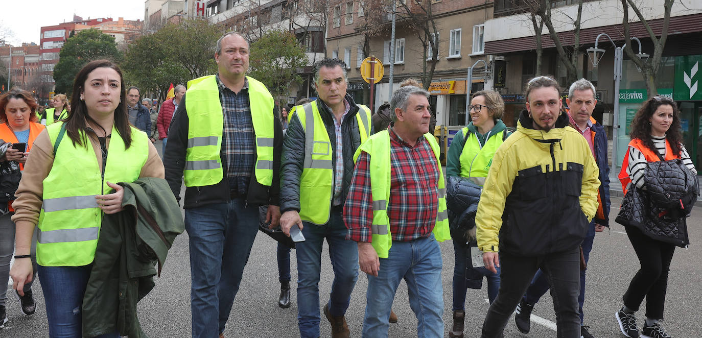
<svg viewBox="0 0 702 338">
<path fill-rule="evenodd" d="M 55 144 L 64 122 L 46 129 Z M 133 182 L 149 156 L 149 139 L 131 127 L 131 147 L 112 128 L 105 177 L 102 178 L 98 158 L 88 137 L 83 145 L 72 143 L 64 135 L 56 151 L 51 171 L 43 181 L 41 212 L 37 224 L 37 263 L 42 266 L 84 266 L 93 262 L 98 244 L 102 210 L 96 195 L 110 194 L 107 182 Z M 79 173 L 77 179 L 75 177 Z"/>
</svg>

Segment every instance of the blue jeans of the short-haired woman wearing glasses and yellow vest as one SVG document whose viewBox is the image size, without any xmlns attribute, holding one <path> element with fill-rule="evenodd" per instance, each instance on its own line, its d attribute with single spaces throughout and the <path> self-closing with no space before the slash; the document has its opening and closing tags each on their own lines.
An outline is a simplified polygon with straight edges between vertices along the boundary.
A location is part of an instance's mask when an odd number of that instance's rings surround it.
<svg viewBox="0 0 702 338">
<path fill-rule="evenodd" d="M 465 293 L 468 290 L 468 283 L 466 282 L 466 267 L 470 264 L 470 247 L 468 245 L 463 245 L 458 243 L 458 241 L 453 241 L 453 257 L 455 257 L 455 263 L 453 264 L 453 311 L 463 311 L 465 310 Z M 497 292 L 500 290 L 500 268 L 497 268 L 497 273 L 492 273 L 488 269 L 481 268 L 470 268 L 474 272 L 473 276 L 477 276 L 477 273 L 482 277 L 487 277 L 487 295 L 488 299 L 492 303 L 497 297 Z M 471 277 L 468 276 L 470 279 Z M 475 281 L 477 282 L 477 280 Z M 479 289 L 479 288 L 478 288 Z"/>
</svg>

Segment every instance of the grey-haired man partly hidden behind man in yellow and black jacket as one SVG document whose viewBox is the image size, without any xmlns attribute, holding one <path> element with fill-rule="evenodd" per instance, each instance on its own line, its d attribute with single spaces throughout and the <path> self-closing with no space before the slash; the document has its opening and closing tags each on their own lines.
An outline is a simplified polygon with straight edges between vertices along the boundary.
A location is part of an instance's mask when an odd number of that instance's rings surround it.
<svg viewBox="0 0 702 338">
<path fill-rule="evenodd" d="M 595 86 L 585 79 L 575 81 L 568 90 L 568 114 L 571 127 L 585 137 L 585 140 L 590 146 L 592 156 L 595 158 L 597 167 L 600 168 L 600 188 L 597 191 L 597 213 L 592 218 L 592 222 L 588 225 L 588 234 L 585 235 L 581 244 L 583 258 L 585 259 L 585 269 L 580 271 L 580 295 L 578 295 L 578 304 L 580 311 L 581 338 L 592 338 L 592 334 L 588 332 L 588 326 L 583 325 L 583 304 L 585 303 L 585 271 L 587 263 L 590 259 L 590 251 L 592 243 L 595 241 L 595 233 L 604 230 L 604 227 L 609 227 L 609 163 L 607 163 L 607 133 L 602 124 L 592 118 L 592 111 L 595 110 Z M 527 292 L 522 297 L 522 301 L 517 305 L 515 313 L 515 323 L 517 329 L 522 333 L 529 333 L 531 328 L 531 311 L 538 300 L 548 291 L 548 281 L 543 271 L 539 270 L 531 280 L 531 285 Z"/>
</svg>

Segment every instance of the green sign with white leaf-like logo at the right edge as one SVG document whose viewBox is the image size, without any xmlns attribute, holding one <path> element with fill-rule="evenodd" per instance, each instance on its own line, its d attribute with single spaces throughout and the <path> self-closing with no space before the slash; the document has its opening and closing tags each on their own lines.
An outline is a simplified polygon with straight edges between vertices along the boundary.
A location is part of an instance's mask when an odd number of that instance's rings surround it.
<svg viewBox="0 0 702 338">
<path fill-rule="evenodd" d="M 675 58 L 675 88 L 673 100 L 702 100 L 702 55 Z"/>
</svg>

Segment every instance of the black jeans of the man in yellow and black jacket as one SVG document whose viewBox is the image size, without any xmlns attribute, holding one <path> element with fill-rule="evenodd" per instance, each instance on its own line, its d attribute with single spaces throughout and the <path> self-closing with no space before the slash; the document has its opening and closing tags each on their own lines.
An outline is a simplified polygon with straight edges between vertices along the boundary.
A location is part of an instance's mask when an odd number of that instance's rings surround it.
<svg viewBox="0 0 702 338">
<path fill-rule="evenodd" d="M 536 270 L 542 269 L 551 289 L 556 311 L 558 338 L 579 338 L 578 293 L 580 292 L 580 250 L 557 252 L 540 257 L 500 253 L 502 268 L 500 292 L 490 305 L 482 327 L 483 338 L 502 337 L 512 312 L 529 287 Z"/>
</svg>

